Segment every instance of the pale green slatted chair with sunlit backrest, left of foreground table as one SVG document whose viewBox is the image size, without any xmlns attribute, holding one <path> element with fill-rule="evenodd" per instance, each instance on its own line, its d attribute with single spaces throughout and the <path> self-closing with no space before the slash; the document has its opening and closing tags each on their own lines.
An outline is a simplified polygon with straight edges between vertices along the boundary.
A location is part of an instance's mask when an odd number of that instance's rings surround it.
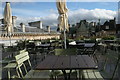
<svg viewBox="0 0 120 80">
<path fill-rule="evenodd" d="M 22 78 L 25 78 L 25 79 L 26 78 L 49 79 L 50 78 L 50 76 L 49 76 L 50 72 L 47 71 L 47 70 L 43 70 L 43 71 L 33 70 L 32 66 L 31 66 L 31 63 L 30 63 L 30 60 L 29 60 L 28 52 L 25 52 L 23 54 L 15 56 L 16 62 L 18 64 L 18 66 L 20 66 L 19 71 L 20 71 L 20 74 L 21 74 Z M 23 58 L 21 59 L 22 56 L 23 56 Z M 27 66 L 25 65 L 25 61 L 28 62 Z M 26 73 L 25 76 L 23 75 L 22 70 L 21 70 L 22 66 L 24 67 L 24 70 L 25 70 L 25 73 Z M 30 66 L 30 68 L 31 68 L 30 71 L 27 71 L 28 66 Z"/>
</svg>

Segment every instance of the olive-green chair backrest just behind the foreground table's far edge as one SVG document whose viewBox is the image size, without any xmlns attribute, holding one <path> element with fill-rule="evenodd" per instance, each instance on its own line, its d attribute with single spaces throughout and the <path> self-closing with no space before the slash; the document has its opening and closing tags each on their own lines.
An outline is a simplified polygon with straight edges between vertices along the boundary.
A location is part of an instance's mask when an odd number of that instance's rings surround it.
<svg viewBox="0 0 120 80">
<path fill-rule="evenodd" d="M 55 55 L 76 55 L 76 48 L 55 49 Z"/>
</svg>

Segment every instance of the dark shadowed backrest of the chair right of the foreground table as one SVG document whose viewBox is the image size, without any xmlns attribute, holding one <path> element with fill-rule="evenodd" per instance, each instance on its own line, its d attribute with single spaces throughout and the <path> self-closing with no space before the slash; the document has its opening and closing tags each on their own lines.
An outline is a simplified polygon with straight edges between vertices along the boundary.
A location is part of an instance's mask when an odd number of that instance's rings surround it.
<svg viewBox="0 0 120 80">
<path fill-rule="evenodd" d="M 107 53 L 105 54 L 105 63 L 103 69 L 101 70 L 101 74 L 104 78 L 109 78 L 113 80 L 113 75 L 116 71 L 116 66 L 119 64 L 120 55 L 117 51 L 107 49 Z M 110 67 L 109 72 L 106 71 L 107 66 Z M 113 67 L 114 66 L 114 67 Z"/>
</svg>

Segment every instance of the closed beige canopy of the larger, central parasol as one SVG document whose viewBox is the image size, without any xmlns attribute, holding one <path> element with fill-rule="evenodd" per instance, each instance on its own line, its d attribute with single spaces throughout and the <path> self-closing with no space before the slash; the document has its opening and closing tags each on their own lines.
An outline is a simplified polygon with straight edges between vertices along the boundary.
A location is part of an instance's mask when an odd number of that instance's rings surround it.
<svg viewBox="0 0 120 80">
<path fill-rule="evenodd" d="M 66 29 L 66 31 L 69 31 L 66 0 L 57 0 L 56 4 L 59 12 L 59 30 L 64 31 Z"/>
</svg>

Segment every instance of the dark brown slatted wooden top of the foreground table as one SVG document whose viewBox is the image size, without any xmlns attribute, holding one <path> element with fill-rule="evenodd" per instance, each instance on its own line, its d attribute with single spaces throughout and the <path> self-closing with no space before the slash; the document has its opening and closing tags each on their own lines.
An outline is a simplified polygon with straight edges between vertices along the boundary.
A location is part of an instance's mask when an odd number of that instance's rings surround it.
<svg viewBox="0 0 120 80">
<path fill-rule="evenodd" d="M 41 63 L 38 63 L 36 70 L 70 70 L 70 69 L 97 69 L 92 58 L 87 55 L 49 55 Z"/>
</svg>

